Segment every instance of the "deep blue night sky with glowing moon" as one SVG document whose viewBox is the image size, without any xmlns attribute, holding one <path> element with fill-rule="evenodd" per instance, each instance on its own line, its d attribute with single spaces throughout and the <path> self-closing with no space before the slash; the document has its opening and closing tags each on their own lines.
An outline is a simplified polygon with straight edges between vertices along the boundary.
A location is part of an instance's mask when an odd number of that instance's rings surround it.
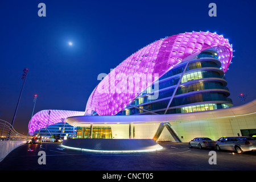
<svg viewBox="0 0 256 182">
<path fill-rule="evenodd" d="M 38 4 L 46 4 L 46 17 Z M 209 3 L 217 5 L 210 17 Z M 234 106 L 237 96 L 256 98 L 256 1 L 57 1 L 0 2 L 0 119 L 11 123 L 28 75 L 14 128 L 27 134 L 28 121 L 44 109 L 84 111 L 100 73 L 147 44 L 189 31 L 224 35 L 233 44 L 233 63 L 226 73 Z M 73 45 L 69 46 L 69 42 Z"/>
</svg>

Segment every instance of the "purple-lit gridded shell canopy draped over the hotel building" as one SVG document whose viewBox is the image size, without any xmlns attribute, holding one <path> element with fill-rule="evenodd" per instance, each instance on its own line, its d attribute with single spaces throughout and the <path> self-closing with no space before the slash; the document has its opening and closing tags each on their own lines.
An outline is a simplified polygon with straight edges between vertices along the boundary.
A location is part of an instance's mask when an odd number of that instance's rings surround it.
<svg viewBox="0 0 256 182">
<path fill-rule="evenodd" d="M 232 45 L 222 35 L 211 32 L 185 32 L 158 40 L 124 60 L 96 86 L 85 111 L 48 110 L 36 113 L 30 121 L 30 135 L 61 122 L 61 118 L 81 115 L 116 115 L 160 77 L 202 51 L 218 53 L 225 73 L 233 57 Z M 133 79 L 130 79 L 133 78 Z M 49 123 L 48 123 L 49 121 Z"/>
</svg>

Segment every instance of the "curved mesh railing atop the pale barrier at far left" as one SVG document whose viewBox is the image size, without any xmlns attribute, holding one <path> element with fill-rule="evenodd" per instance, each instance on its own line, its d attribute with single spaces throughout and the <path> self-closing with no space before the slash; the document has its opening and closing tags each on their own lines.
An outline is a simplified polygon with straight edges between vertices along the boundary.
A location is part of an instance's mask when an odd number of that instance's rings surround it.
<svg viewBox="0 0 256 182">
<path fill-rule="evenodd" d="M 27 136 L 22 135 L 14 130 L 13 126 L 7 121 L 0 119 L 0 140 L 16 140 L 16 141 L 25 141 Z"/>
</svg>

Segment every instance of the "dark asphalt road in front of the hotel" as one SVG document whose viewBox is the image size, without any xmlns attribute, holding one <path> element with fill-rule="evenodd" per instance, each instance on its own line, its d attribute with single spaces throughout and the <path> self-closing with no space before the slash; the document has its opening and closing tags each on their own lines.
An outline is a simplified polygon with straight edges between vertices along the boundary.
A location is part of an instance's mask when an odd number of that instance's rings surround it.
<svg viewBox="0 0 256 182">
<path fill-rule="evenodd" d="M 211 149 L 189 148 L 187 143 L 159 143 L 155 152 L 103 153 L 72 150 L 60 143 L 24 144 L 0 163 L 1 171 L 251 171 L 256 169 L 256 152 L 234 154 L 216 151 L 216 164 L 209 164 Z M 46 154 L 46 164 L 39 164 Z M 42 158 L 40 158 L 42 159 Z M 43 160 L 40 160 L 41 162 Z M 213 161 L 213 160 L 210 160 Z"/>
</svg>

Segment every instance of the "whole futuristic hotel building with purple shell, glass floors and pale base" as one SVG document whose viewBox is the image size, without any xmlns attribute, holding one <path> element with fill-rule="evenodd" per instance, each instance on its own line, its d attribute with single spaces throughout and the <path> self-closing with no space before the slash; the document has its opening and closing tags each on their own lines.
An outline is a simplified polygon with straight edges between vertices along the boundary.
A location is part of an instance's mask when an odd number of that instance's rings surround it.
<svg viewBox="0 0 256 182">
<path fill-rule="evenodd" d="M 96 86 L 85 111 L 52 110 L 76 138 L 188 142 L 251 135 L 256 101 L 233 107 L 225 73 L 232 61 L 228 39 L 185 32 L 158 40 L 125 59 Z M 41 123 L 36 128 L 36 123 Z M 32 117 L 30 134 L 49 126 L 47 111 Z"/>
</svg>

